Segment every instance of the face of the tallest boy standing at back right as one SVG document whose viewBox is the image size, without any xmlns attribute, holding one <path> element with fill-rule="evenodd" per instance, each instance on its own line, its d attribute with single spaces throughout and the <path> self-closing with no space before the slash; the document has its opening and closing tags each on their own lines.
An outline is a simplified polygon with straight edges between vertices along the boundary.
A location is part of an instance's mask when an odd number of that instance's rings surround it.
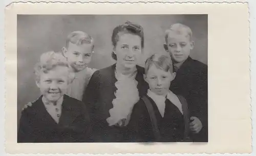
<svg viewBox="0 0 256 156">
<path fill-rule="evenodd" d="M 191 41 L 188 34 L 169 32 L 165 50 L 170 54 L 174 63 L 184 62 L 193 48 L 194 42 Z"/>
</svg>

